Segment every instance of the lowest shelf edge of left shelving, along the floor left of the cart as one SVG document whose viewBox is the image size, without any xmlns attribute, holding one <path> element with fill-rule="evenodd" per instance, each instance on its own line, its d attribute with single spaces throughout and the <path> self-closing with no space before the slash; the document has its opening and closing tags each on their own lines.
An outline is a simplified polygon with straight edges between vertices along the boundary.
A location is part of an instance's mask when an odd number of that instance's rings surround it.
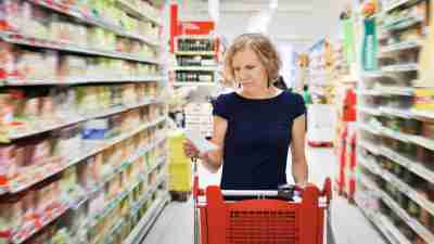
<svg viewBox="0 0 434 244">
<path fill-rule="evenodd" d="M 162 213 L 168 201 L 169 196 L 167 193 L 156 198 L 128 237 L 123 242 L 123 244 L 139 244 L 152 227 L 155 219 Z"/>
</svg>

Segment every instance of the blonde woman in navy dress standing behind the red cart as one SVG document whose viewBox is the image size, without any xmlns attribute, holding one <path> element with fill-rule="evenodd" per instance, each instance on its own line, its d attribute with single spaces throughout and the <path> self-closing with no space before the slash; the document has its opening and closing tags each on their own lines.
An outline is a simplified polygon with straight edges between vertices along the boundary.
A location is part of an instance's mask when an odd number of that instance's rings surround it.
<svg viewBox="0 0 434 244">
<path fill-rule="evenodd" d="M 190 141 L 184 153 L 199 157 L 212 171 L 222 165 L 222 189 L 277 189 L 286 183 L 286 157 L 292 147 L 295 183 L 307 182 L 305 104 L 298 94 L 273 86 L 281 61 L 260 34 L 238 37 L 225 56 L 225 68 L 240 89 L 214 104 L 212 142 L 219 150 L 200 154 Z"/>
</svg>

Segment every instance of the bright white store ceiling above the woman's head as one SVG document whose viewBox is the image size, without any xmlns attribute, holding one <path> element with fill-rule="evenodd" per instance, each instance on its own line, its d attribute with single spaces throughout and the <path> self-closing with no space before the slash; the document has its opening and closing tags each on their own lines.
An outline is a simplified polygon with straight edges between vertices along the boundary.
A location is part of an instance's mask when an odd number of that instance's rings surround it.
<svg viewBox="0 0 434 244">
<path fill-rule="evenodd" d="M 337 36 L 343 1 L 280 0 L 266 31 L 277 42 L 291 42 L 296 49 L 305 50 L 320 38 Z M 178 4 L 183 21 L 209 20 L 206 0 L 178 0 Z M 230 41 L 248 31 L 252 21 L 269 10 L 269 0 L 220 0 L 219 9 L 217 30 Z"/>
</svg>

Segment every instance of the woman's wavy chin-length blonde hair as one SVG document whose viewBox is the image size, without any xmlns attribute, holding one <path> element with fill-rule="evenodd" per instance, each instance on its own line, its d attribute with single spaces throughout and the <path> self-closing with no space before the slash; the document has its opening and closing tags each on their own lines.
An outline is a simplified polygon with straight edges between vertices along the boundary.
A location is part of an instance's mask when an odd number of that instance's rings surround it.
<svg viewBox="0 0 434 244">
<path fill-rule="evenodd" d="M 276 80 L 279 78 L 279 70 L 282 66 L 282 62 L 270 39 L 263 34 L 243 34 L 233 40 L 233 43 L 229 47 L 225 55 L 225 73 L 232 81 L 235 78 L 232 66 L 233 56 L 246 48 L 252 49 L 256 53 L 259 62 L 267 70 L 268 80 Z"/>
</svg>

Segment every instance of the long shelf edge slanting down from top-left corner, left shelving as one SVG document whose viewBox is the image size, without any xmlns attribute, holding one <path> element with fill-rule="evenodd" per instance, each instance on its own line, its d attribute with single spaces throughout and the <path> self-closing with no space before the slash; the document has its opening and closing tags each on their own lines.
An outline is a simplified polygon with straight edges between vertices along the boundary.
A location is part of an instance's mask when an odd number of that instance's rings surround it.
<svg viewBox="0 0 434 244">
<path fill-rule="evenodd" d="M 143 37 L 143 36 L 137 35 L 137 34 L 129 33 L 129 31 L 125 30 L 122 26 L 118 26 L 114 23 L 110 23 L 107 21 L 101 20 L 100 17 L 94 16 L 91 12 L 82 10 L 84 9 L 82 7 L 73 5 L 73 4 L 63 4 L 63 3 L 60 3 L 59 0 L 27 0 L 27 1 L 30 1 L 37 5 L 44 7 L 52 11 L 75 17 L 87 24 L 99 26 L 104 29 L 108 29 L 118 36 L 141 40 L 141 41 L 143 41 L 148 44 L 154 46 L 154 47 L 161 47 L 161 43 L 158 41 L 153 40 L 150 37 Z"/>
</svg>

